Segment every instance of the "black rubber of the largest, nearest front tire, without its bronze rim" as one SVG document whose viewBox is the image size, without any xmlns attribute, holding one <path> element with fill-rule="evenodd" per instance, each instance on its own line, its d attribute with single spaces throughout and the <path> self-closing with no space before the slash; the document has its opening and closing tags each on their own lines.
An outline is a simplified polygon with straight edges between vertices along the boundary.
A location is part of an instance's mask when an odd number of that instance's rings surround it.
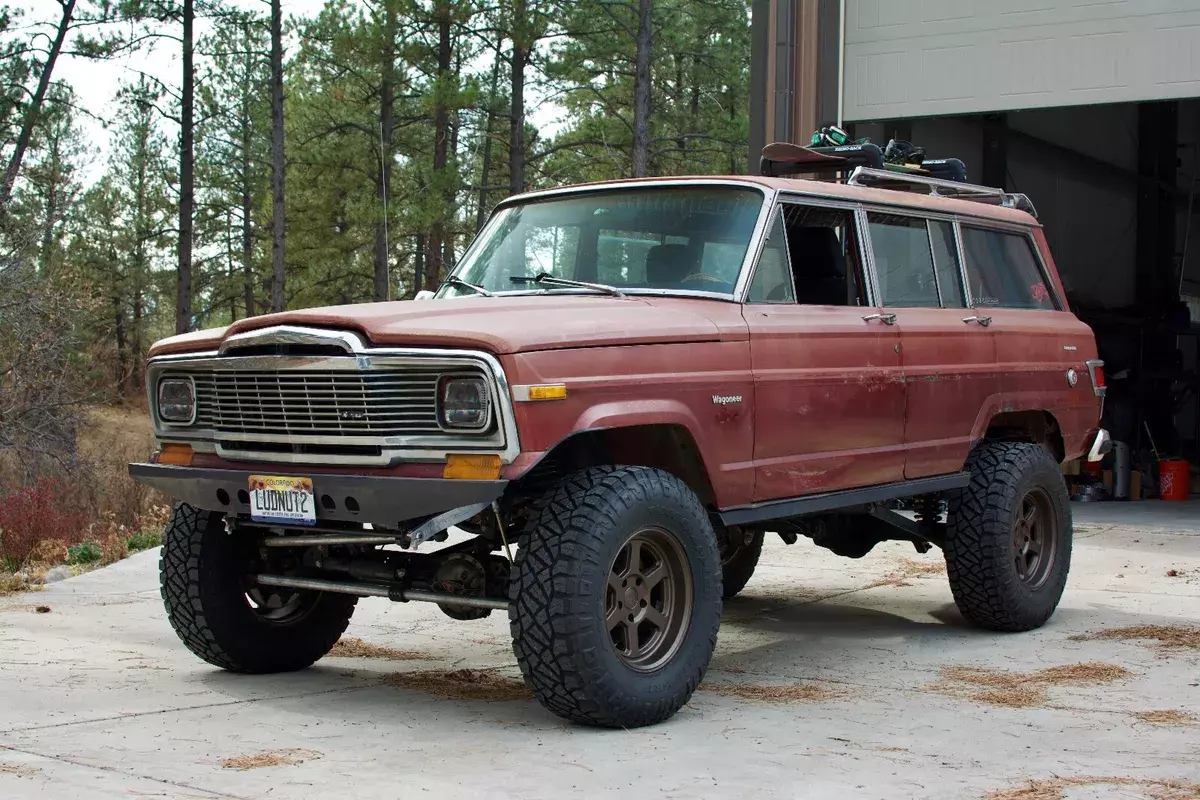
<svg viewBox="0 0 1200 800">
<path fill-rule="evenodd" d="M 680 546 L 691 616 L 670 658 L 629 667 L 605 627 L 610 571 L 653 525 Z M 509 589 L 512 650 L 534 696 L 583 724 L 636 728 L 678 711 L 704 678 L 721 618 L 721 566 L 708 515 L 679 479 L 644 467 L 599 467 L 551 489 L 523 536 Z"/>
</svg>

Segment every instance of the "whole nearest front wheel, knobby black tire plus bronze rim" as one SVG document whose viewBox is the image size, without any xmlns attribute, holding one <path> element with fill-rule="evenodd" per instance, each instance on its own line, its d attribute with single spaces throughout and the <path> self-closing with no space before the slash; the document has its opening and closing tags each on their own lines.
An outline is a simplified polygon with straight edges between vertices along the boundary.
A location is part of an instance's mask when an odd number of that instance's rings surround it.
<svg viewBox="0 0 1200 800">
<path fill-rule="evenodd" d="M 512 649 L 562 717 L 636 728 L 696 691 L 721 618 L 721 563 L 704 507 L 644 467 L 570 475 L 530 522 L 510 584 Z"/>
</svg>

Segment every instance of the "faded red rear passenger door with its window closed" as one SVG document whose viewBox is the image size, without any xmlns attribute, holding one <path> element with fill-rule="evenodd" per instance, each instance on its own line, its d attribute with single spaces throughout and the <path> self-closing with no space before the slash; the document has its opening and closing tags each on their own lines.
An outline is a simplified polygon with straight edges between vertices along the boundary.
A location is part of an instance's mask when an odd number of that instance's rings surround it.
<svg viewBox="0 0 1200 800">
<path fill-rule="evenodd" d="M 958 471 L 997 377 L 992 329 L 966 307 L 954 221 L 892 210 L 866 219 L 880 302 L 900 332 L 904 476 Z"/>
</svg>

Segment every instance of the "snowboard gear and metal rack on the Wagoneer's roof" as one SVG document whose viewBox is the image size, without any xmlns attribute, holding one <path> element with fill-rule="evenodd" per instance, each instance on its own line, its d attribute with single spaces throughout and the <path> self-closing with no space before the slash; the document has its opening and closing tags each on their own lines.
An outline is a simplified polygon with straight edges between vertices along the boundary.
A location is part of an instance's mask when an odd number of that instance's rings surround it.
<svg viewBox="0 0 1200 800">
<path fill-rule="evenodd" d="M 1037 209 L 1025 194 L 967 184 L 966 164 L 958 158 L 925 158 L 923 150 L 908 143 L 893 145 L 898 143 L 889 143 L 888 149 L 899 157 L 912 157 L 913 161 L 919 158 L 919 162 L 889 163 L 884 151 L 870 142 L 822 148 L 774 142 L 762 149 L 758 167 L 761 174 L 776 178 L 798 174 L 848 174 L 846 184 L 851 186 L 926 192 L 938 197 L 1019 209 L 1037 216 Z"/>
</svg>

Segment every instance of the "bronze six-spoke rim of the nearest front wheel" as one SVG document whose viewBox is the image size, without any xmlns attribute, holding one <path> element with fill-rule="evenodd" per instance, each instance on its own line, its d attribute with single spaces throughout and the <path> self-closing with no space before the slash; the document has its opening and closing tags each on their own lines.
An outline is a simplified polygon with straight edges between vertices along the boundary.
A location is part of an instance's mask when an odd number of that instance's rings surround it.
<svg viewBox="0 0 1200 800">
<path fill-rule="evenodd" d="M 630 536 L 605 590 L 605 630 L 622 662 L 653 672 L 670 661 L 688 633 L 691 604 L 691 571 L 679 540 L 660 528 Z"/>
</svg>

